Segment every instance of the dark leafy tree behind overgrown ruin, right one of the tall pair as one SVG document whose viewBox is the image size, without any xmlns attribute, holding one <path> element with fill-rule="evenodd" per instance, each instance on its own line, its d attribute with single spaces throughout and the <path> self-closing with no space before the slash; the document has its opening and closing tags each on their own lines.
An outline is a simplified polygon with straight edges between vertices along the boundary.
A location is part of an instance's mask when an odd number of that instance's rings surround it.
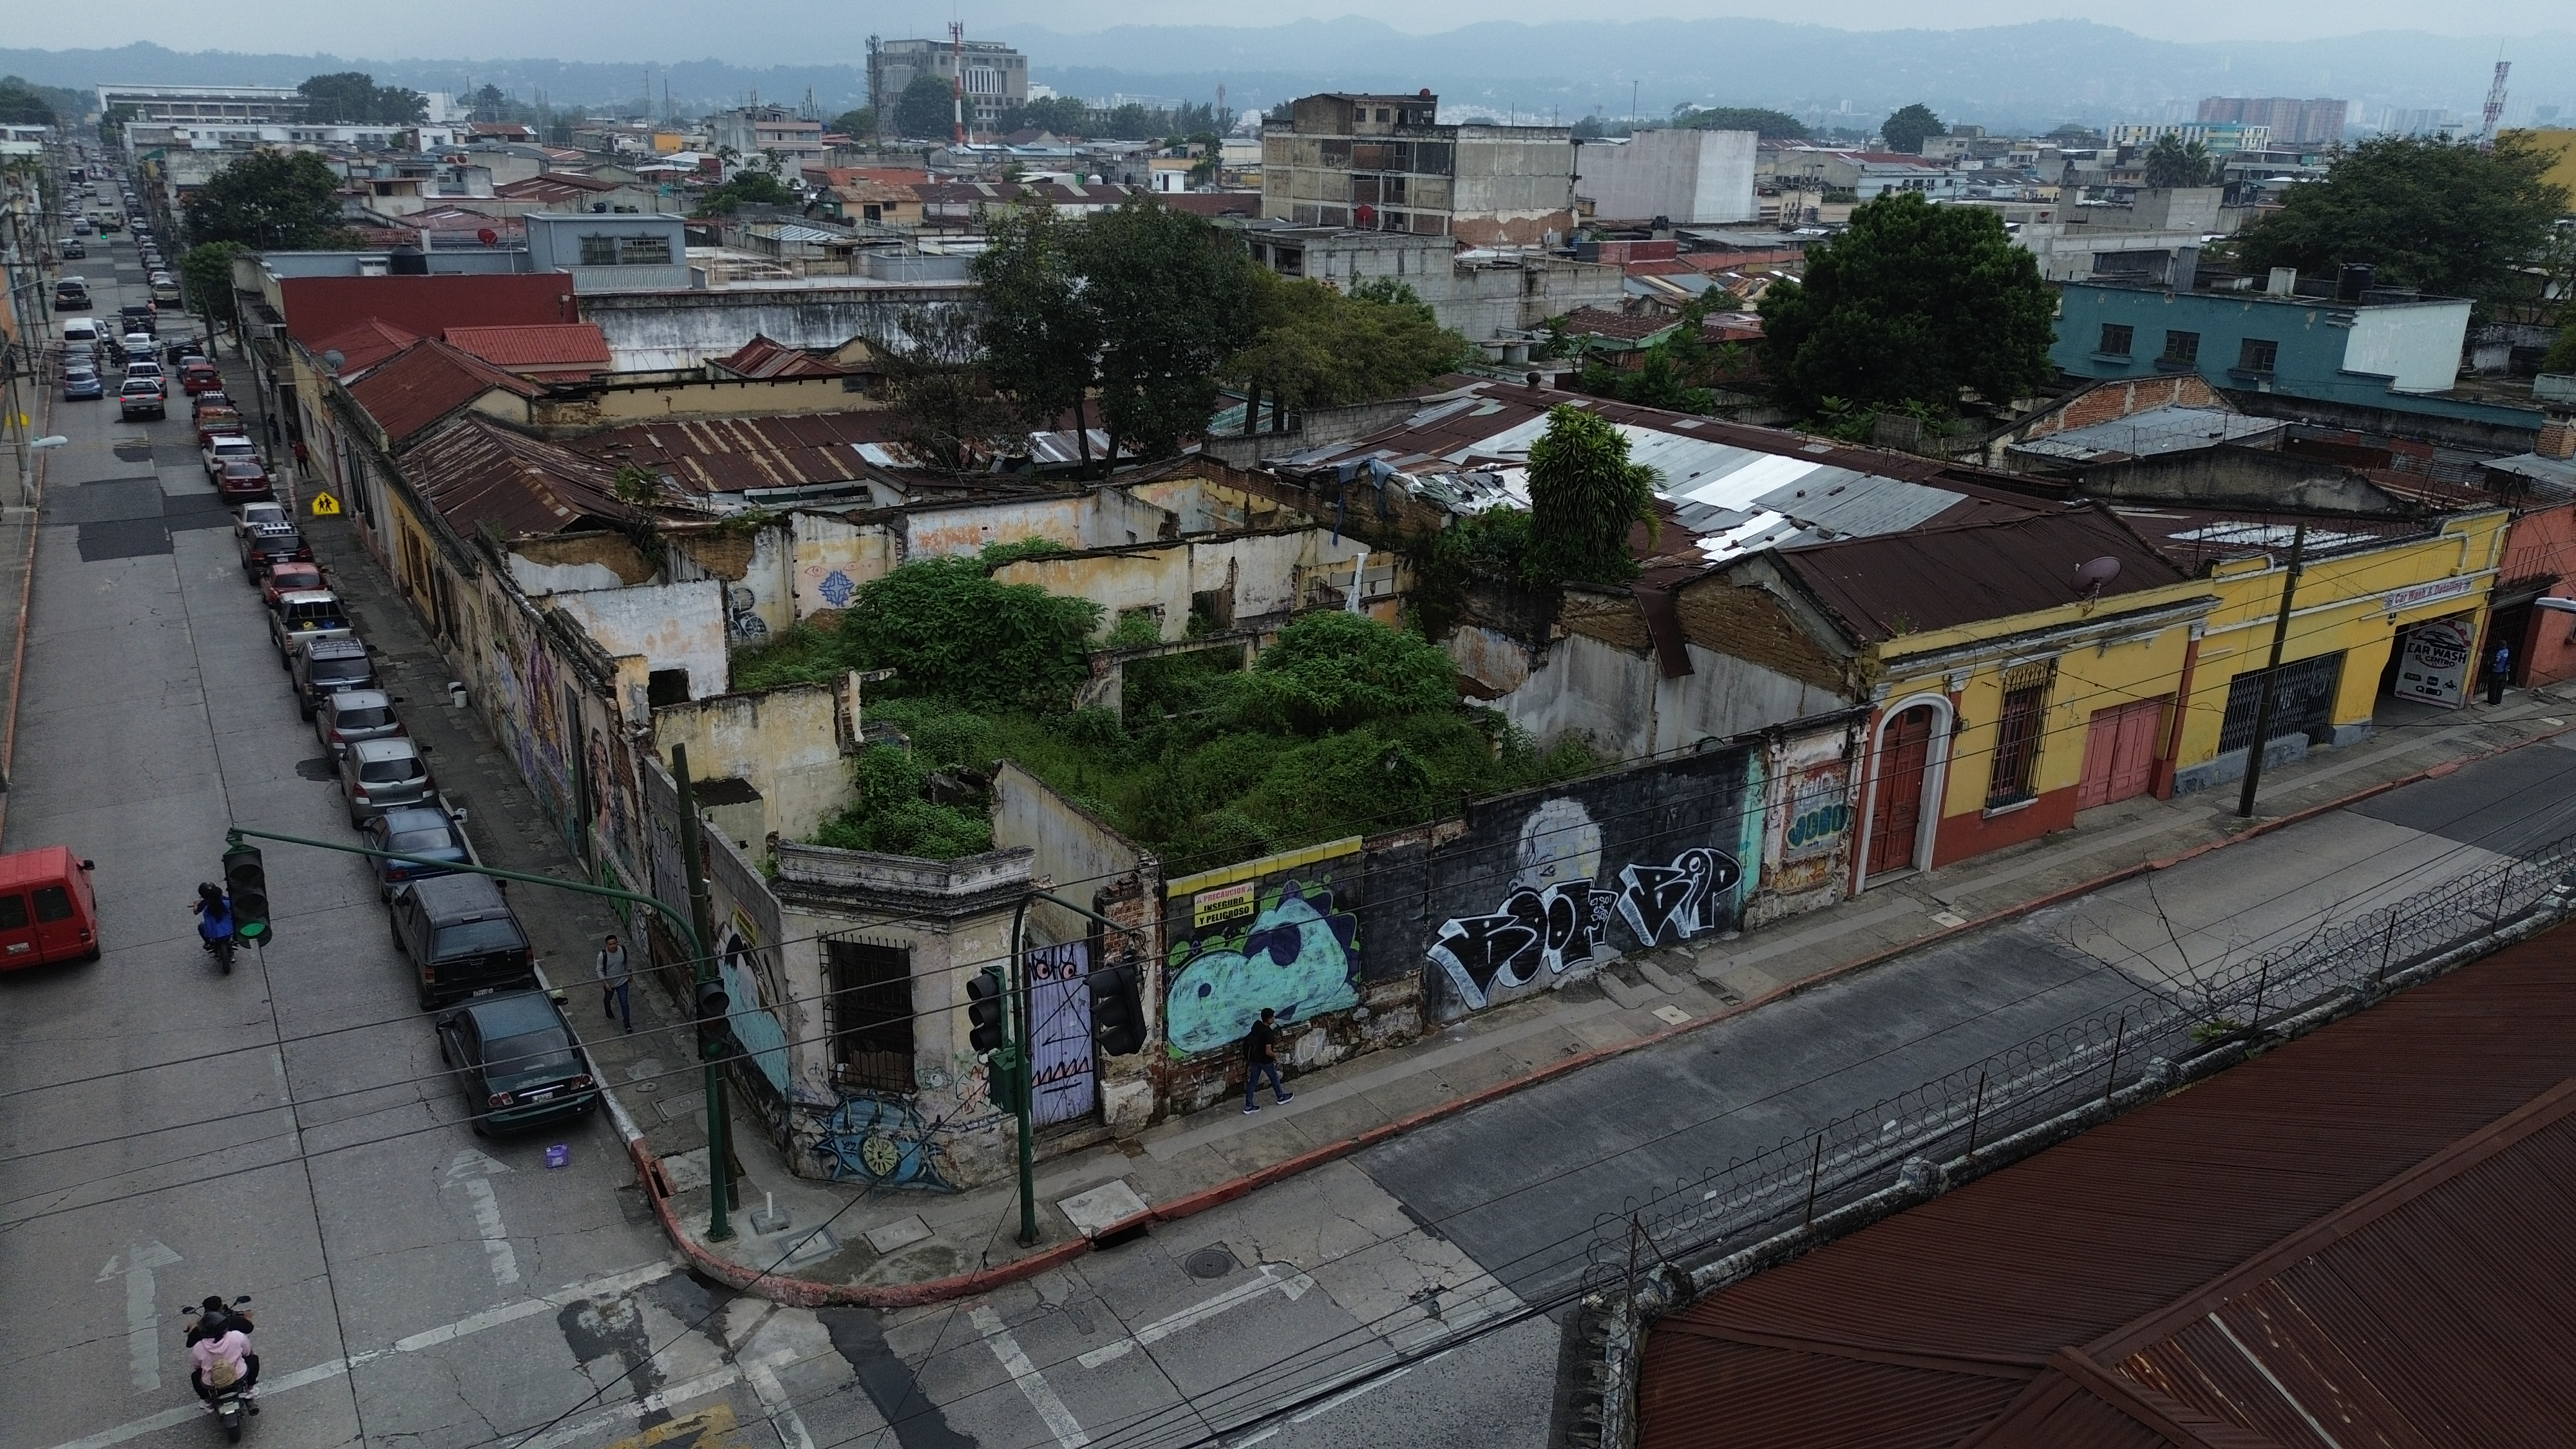
<svg viewBox="0 0 2576 1449">
<path fill-rule="evenodd" d="M 1100 418 L 1164 459 L 1216 410 L 1216 374 L 1252 340 L 1252 260 L 1188 211 L 1131 199 L 1082 222 L 1074 255 L 1100 317 Z"/>
</svg>

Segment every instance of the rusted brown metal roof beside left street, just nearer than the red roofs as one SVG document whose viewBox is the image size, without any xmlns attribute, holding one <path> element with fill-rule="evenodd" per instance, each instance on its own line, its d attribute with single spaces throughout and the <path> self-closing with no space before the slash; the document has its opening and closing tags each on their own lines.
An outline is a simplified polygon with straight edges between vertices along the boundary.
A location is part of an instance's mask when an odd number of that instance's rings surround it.
<svg viewBox="0 0 2576 1449">
<path fill-rule="evenodd" d="M 402 459 L 412 490 L 461 536 L 577 534 L 641 513 L 616 495 L 618 469 L 489 418 L 451 418 Z"/>
</svg>

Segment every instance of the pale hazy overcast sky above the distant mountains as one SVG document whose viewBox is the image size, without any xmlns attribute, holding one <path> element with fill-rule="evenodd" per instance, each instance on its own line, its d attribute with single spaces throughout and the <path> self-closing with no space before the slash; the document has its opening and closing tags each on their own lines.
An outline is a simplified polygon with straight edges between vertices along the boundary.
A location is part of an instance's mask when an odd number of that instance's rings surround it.
<svg viewBox="0 0 2576 1449">
<path fill-rule="evenodd" d="M 708 5 L 706 0 L 443 0 L 438 5 L 350 5 L 345 0 L 222 0 L 216 5 L 62 5 L 5 0 L 5 46 L 121 46 L 155 41 L 170 49 L 332 52 L 363 57 L 562 57 L 562 59 L 696 59 L 744 64 L 814 64 L 858 59 L 871 31 L 940 34 L 963 18 L 969 34 L 1012 26 L 1097 31 L 1108 26 L 1275 26 L 1298 18 L 1350 15 L 1350 0 L 948 0 L 933 5 Z M 1378 5 L 1376 21 L 1404 31 L 1445 31 L 1476 21 L 1564 21 L 1600 15 L 1566 0 L 1412 0 Z M 2241 0 L 2166 0 L 2105 13 L 2081 0 L 1953 0 L 1927 8 L 1896 0 L 1806 0 L 1747 5 L 1728 0 L 1643 0 L 1618 18 L 1759 15 L 1862 31 L 2009 26 L 2045 18 L 2115 23 L 2169 41 L 2298 39 L 2354 31 L 2437 31 L 2450 36 L 2514 36 L 2576 28 L 2568 0 L 2344 0 L 2318 5 L 2244 5 Z"/>
</svg>

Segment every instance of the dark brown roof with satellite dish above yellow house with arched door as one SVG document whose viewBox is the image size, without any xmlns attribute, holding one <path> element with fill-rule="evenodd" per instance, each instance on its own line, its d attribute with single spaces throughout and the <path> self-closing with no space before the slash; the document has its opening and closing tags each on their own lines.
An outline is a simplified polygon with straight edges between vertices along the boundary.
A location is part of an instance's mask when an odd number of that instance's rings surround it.
<svg viewBox="0 0 2576 1449">
<path fill-rule="evenodd" d="M 1834 539 L 1777 557 L 1857 642 L 2076 603 L 2076 570 L 2105 557 L 2120 572 L 2102 598 L 2187 578 L 2099 505 Z"/>
</svg>

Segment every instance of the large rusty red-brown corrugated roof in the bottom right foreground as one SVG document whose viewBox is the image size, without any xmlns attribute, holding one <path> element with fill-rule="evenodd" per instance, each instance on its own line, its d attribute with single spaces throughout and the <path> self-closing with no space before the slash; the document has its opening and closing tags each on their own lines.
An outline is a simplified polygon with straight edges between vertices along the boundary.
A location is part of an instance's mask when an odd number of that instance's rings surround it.
<svg viewBox="0 0 2576 1449">
<path fill-rule="evenodd" d="M 2576 931 L 1664 1318 L 1643 1449 L 2563 1444 Z"/>
</svg>

